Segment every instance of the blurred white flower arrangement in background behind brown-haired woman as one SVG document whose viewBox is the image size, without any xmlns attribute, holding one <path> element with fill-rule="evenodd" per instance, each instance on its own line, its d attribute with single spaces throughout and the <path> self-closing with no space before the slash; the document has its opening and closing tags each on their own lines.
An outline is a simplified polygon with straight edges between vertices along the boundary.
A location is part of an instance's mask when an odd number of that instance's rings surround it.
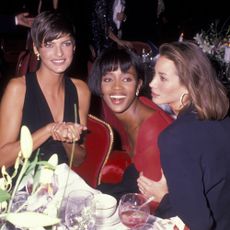
<svg viewBox="0 0 230 230">
<path fill-rule="evenodd" d="M 221 27 L 217 21 L 211 23 L 209 29 L 197 33 L 194 40 L 214 64 L 220 80 L 230 79 L 230 25 L 227 21 Z"/>
</svg>

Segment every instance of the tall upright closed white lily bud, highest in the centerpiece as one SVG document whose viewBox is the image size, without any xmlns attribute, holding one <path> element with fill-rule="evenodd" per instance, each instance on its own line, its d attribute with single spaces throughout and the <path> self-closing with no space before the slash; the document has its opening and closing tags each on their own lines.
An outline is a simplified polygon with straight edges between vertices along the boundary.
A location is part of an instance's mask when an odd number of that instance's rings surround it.
<svg viewBox="0 0 230 230">
<path fill-rule="evenodd" d="M 33 139 L 27 126 L 23 125 L 20 133 L 21 152 L 25 159 L 28 159 L 33 151 Z"/>
</svg>

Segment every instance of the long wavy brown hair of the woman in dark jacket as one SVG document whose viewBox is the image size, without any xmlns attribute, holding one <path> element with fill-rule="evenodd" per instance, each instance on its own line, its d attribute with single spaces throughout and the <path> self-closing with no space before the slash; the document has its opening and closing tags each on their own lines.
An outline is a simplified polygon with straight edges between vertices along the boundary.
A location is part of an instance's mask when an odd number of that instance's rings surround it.
<svg viewBox="0 0 230 230">
<path fill-rule="evenodd" d="M 229 110 L 229 98 L 206 54 L 191 41 L 160 46 L 160 55 L 173 61 L 199 119 L 221 120 Z"/>
</svg>

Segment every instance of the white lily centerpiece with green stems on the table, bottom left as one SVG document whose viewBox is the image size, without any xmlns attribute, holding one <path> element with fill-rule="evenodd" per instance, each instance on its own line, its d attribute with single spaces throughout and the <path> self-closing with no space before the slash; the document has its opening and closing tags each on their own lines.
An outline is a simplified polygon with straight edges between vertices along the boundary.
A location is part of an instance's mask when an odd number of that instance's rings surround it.
<svg viewBox="0 0 230 230">
<path fill-rule="evenodd" d="M 57 191 L 54 181 L 57 155 L 54 154 L 48 162 L 39 162 L 37 156 L 30 162 L 33 142 L 26 126 L 21 128 L 20 146 L 14 173 L 9 175 L 5 166 L 1 169 L 1 229 L 7 229 L 7 223 L 27 229 L 58 224 L 60 219 L 57 218 L 57 207 L 49 202 Z"/>
</svg>

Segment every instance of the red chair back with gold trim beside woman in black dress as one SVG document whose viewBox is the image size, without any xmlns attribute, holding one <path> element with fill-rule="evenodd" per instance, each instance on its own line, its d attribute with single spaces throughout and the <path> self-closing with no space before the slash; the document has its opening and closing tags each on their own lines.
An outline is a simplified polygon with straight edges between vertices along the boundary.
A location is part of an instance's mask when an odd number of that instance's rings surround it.
<svg viewBox="0 0 230 230">
<path fill-rule="evenodd" d="M 88 115 L 87 127 L 87 156 L 85 161 L 80 166 L 73 167 L 73 170 L 95 188 L 101 182 L 102 168 L 110 155 L 114 137 L 110 125 L 91 114 Z"/>
</svg>

